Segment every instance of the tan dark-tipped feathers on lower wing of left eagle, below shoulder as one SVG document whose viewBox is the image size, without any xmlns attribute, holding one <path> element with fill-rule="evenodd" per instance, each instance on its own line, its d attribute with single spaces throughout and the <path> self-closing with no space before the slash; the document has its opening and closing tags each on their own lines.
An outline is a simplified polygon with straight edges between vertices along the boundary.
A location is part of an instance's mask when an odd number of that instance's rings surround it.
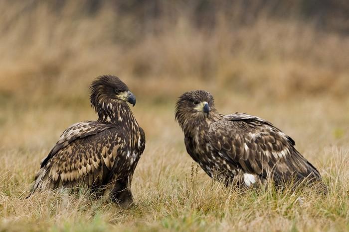
<svg viewBox="0 0 349 232">
<path fill-rule="evenodd" d="M 72 187 L 82 182 L 90 186 L 101 184 L 108 174 L 104 168 L 110 170 L 116 156 L 123 154 L 120 144 L 123 140 L 119 138 L 117 128 L 109 128 L 71 141 L 47 160 L 41 168 L 44 177 L 36 179 L 34 189 L 39 185 L 45 188 L 51 185 Z M 44 185 L 44 181 L 48 185 Z"/>
</svg>

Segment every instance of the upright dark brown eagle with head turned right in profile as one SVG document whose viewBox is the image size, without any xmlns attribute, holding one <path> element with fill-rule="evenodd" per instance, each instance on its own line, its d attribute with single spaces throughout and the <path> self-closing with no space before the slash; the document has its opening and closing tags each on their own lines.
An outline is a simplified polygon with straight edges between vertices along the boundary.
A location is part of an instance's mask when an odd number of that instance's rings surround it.
<svg viewBox="0 0 349 232">
<path fill-rule="evenodd" d="M 85 185 L 128 206 L 133 202 L 131 181 L 145 148 L 145 134 L 127 102 L 135 95 L 115 76 L 101 76 L 90 85 L 97 121 L 75 123 L 66 129 L 41 162 L 32 190 Z"/>
</svg>

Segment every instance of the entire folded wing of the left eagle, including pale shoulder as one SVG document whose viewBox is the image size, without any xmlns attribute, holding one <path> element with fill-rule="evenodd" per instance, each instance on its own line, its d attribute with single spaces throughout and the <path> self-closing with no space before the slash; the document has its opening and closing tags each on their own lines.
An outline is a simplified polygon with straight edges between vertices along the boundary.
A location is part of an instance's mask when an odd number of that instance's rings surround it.
<svg viewBox="0 0 349 232">
<path fill-rule="evenodd" d="M 105 184 L 117 156 L 123 158 L 120 155 L 124 154 L 124 142 L 115 125 L 74 124 L 63 132 L 41 163 L 32 189 L 54 189 L 63 184 L 73 187 L 81 182 L 89 186 Z"/>
</svg>

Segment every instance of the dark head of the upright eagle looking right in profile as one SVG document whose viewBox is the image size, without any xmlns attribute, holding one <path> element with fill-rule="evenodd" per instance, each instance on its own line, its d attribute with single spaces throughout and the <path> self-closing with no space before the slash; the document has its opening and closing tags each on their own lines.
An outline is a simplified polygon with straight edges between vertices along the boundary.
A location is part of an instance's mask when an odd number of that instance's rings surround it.
<svg viewBox="0 0 349 232">
<path fill-rule="evenodd" d="M 96 110 L 100 107 L 105 107 L 109 102 L 129 102 L 133 106 L 136 104 L 135 95 L 130 92 L 127 85 L 119 77 L 111 75 L 100 76 L 92 81 L 90 90 L 91 105 Z"/>
</svg>

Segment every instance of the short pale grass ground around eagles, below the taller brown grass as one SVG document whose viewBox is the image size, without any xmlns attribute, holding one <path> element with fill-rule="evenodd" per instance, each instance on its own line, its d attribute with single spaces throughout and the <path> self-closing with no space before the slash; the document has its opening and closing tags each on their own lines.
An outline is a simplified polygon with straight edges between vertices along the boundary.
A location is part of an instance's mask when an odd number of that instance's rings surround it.
<svg viewBox="0 0 349 232">
<path fill-rule="evenodd" d="M 138 99 L 142 102 L 142 96 Z M 324 197 L 307 189 L 294 194 L 272 189 L 240 192 L 213 183 L 185 152 L 174 122 L 174 100 L 155 107 L 138 102 L 133 108 L 147 133 L 147 146 L 134 175 L 135 206 L 126 210 L 84 192 L 47 192 L 23 199 L 41 158 L 65 127 L 95 115 L 87 99 L 69 106 L 8 104 L 2 111 L 8 117 L 2 122 L 6 133 L 0 152 L 0 230 L 349 230 L 349 112 L 343 110 L 348 101 L 291 99 L 285 104 L 238 95 L 216 98 L 221 112 L 259 115 L 292 136 L 328 184 Z"/>
</svg>

